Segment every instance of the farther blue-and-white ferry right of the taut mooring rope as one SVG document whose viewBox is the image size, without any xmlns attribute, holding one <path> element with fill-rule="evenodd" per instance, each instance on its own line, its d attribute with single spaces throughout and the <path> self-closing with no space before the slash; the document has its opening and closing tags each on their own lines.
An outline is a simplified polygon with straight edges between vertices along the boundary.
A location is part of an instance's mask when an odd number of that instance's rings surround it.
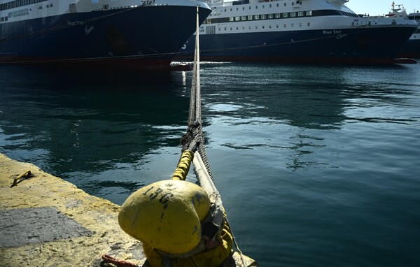
<svg viewBox="0 0 420 267">
<path fill-rule="evenodd" d="M 208 0 L 202 60 L 393 64 L 417 28 L 402 18 L 361 17 L 348 0 Z M 195 36 L 180 50 L 193 51 Z"/>
</svg>

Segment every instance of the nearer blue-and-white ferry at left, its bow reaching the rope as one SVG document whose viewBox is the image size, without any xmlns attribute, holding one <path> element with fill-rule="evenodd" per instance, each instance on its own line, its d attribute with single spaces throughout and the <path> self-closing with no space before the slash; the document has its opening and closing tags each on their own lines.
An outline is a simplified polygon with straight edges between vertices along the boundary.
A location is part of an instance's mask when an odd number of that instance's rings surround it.
<svg viewBox="0 0 420 267">
<path fill-rule="evenodd" d="M 211 9 L 193 0 L 0 0 L 0 64 L 169 67 Z"/>
</svg>

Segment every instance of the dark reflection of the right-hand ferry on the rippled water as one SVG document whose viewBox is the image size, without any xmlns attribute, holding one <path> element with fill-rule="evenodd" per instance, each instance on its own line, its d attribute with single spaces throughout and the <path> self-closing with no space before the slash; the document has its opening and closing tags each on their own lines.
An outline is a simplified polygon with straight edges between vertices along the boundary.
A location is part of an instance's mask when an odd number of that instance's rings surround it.
<svg viewBox="0 0 420 267">
<path fill-rule="evenodd" d="M 407 105 L 402 96 L 412 92 L 398 86 L 407 81 L 389 75 L 406 71 L 409 69 L 403 66 L 360 71 L 358 67 L 210 64 L 202 71 L 202 87 L 204 98 L 211 103 L 209 112 L 216 115 L 267 117 L 295 127 L 339 129 L 346 120 L 365 118 L 367 114 L 353 116 L 351 110 L 355 108 Z M 218 78 L 220 73 L 223 79 Z M 363 73 L 376 80 L 360 77 Z M 224 110 L 226 105 L 235 108 Z"/>
</svg>

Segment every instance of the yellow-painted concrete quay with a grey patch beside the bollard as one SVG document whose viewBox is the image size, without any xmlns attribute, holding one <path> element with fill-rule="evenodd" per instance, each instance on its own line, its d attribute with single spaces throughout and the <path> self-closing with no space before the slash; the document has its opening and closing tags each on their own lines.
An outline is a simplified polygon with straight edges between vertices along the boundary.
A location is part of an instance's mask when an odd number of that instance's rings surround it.
<svg viewBox="0 0 420 267">
<path fill-rule="evenodd" d="M 0 266 L 142 266 L 141 243 L 118 225 L 120 206 L 37 166 L 0 154 Z"/>
</svg>

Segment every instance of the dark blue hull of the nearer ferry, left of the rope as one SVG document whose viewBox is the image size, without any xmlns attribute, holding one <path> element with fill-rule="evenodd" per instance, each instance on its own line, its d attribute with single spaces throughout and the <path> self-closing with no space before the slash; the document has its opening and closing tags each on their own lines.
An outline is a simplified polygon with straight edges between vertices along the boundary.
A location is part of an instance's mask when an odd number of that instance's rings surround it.
<svg viewBox="0 0 420 267">
<path fill-rule="evenodd" d="M 200 24 L 211 10 L 200 8 Z M 195 32 L 195 6 L 144 6 L 0 24 L 0 64 L 169 66 Z"/>
</svg>

